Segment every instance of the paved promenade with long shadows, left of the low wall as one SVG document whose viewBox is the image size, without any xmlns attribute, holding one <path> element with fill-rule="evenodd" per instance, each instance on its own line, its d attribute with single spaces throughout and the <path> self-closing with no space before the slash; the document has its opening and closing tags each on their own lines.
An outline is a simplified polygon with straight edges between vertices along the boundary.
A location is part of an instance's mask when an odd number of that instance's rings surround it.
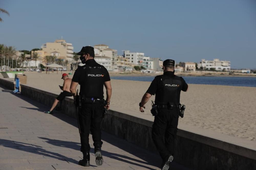
<svg viewBox="0 0 256 170">
<path fill-rule="evenodd" d="M 2 87 L 0 103 L 0 170 L 159 169 L 159 155 L 104 132 L 103 165 L 95 164 L 90 135 L 91 166 L 82 167 L 75 119 L 58 112 L 45 114 L 44 105 Z M 173 162 L 170 169 L 187 168 Z"/>
</svg>

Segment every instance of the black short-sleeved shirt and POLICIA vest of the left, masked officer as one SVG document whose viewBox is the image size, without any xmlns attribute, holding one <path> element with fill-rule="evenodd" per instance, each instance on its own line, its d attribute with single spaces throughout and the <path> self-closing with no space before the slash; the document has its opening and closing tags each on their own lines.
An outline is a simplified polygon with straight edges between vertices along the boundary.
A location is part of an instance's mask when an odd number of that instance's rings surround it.
<svg viewBox="0 0 256 170">
<path fill-rule="evenodd" d="M 110 81 L 110 76 L 104 66 L 90 59 L 84 66 L 77 68 L 72 81 L 80 84 L 80 94 L 86 97 L 102 98 L 104 82 Z"/>
</svg>

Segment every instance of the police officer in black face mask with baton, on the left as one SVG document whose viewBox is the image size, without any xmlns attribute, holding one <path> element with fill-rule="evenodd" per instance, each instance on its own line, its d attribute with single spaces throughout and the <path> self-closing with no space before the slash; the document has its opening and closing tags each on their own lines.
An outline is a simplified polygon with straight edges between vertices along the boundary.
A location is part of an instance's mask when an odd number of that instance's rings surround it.
<svg viewBox="0 0 256 170">
<path fill-rule="evenodd" d="M 91 130 L 96 164 L 102 165 L 103 158 L 101 154 L 101 121 L 103 118 L 103 109 L 110 108 L 110 98 L 112 93 L 110 76 L 107 69 L 94 60 L 94 48 L 90 46 L 83 47 L 77 55 L 84 66 L 79 67 L 72 78 L 70 91 L 76 94 L 76 87 L 80 84 L 81 108 L 79 109 L 79 125 L 81 152 L 83 160 L 79 165 L 90 166 L 90 145 L 89 132 Z M 106 100 L 103 96 L 103 85 L 106 88 Z"/>
</svg>

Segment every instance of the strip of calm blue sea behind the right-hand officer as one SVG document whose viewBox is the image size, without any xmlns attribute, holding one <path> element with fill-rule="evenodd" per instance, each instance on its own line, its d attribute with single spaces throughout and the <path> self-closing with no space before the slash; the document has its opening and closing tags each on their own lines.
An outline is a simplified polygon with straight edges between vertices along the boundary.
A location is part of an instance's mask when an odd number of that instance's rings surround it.
<svg viewBox="0 0 256 170">
<path fill-rule="evenodd" d="M 189 84 L 211 84 L 211 85 L 256 87 L 256 77 L 184 76 L 183 78 Z M 116 77 L 111 77 L 111 79 L 151 82 L 154 79 L 154 76 L 116 76 Z"/>
</svg>

